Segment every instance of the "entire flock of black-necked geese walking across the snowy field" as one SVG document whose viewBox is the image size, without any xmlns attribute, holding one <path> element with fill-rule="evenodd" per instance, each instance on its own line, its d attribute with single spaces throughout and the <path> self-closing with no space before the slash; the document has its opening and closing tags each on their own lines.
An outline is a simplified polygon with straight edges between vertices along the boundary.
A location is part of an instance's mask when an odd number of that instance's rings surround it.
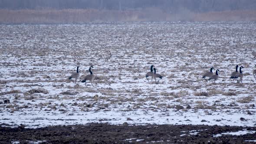
<svg viewBox="0 0 256 144">
<path fill-rule="evenodd" d="M 231 76 L 230 76 L 230 79 L 232 79 L 233 80 L 233 82 L 235 83 L 235 80 L 237 80 L 237 82 L 242 82 L 242 80 L 243 80 L 243 72 L 242 72 L 242 68 L 243 68 L 243 66 L 240 66 L 240 70 L 239 70 L 239 72 L 238 72 L 238 65 L 236 65 L 236 71 L 235 72 L 232 72 L 232 74 L 231 74 Z M 83 78 L 83 80 L 82 80 L 82 82 L 85 82 L 85 85 L 86 85 L 86 82 L 91 82 L 92 83 L 92 81 L 94 80 L 94 78 L 95 78 L 95 75 L 93 74 L 93 72 L 92 72 L 92 70 L 91 70 L 91 68 L 93 68 L 93 66 L 90 66 L 89 67 L 89 72 L 90 72 L 90 74 L 89 75 L 86 75 L 84 78 Z M 153 69 L 154 68 L 154 69 Z M 253 70 L 253 76 L 254 76 L 254 78 L 256 79 L 256 65 L 254 66 L 254 70 Z M 76 72 L 74 72 L 74 73 L 72 73 L 72 75 L 71 76 L 69 76 L 69 80 L 72 80 L 73 82 L 75 82 L 76 83 L 76 80 L 77 79 L 79 79 L 79 66 L 77 66 L 77 68 L 76 68 Z M 216 70 L 216 72 L 215 72 L 215 75 L 213 74 L 213 67 L 211 67 L 210 68 L 210 72 L 206 72 L 204 75 L 203 75 L 203 79 L 205 79 L 207 82 L 209 81 L 209 83 L 210 82 L 212 82 L 212 83 L 215 83 L 215 81 L 217 81 L 218 79 L 219 79 L 219 74 L 218 74 L 218 72 L 220 72 L 220 70 L 219 69 L 217 69 Z M 153 70 L 154 70 L 154 72 L 153 72 Z M 214 69 L 215 70 L 215 69 Z M 158 73 L 156 73 L 156 69 L 155 69 L 155 67 L 154 67 L 154 65 L 151 65 L 151 67 L 150 67 L 150 72 L 147 72 L 147 74 L 146 74 L 146 79 L 148 80 L 148 82 L 149 82 L 149 79 L 151 79 L 151 82 L 152 82 L 152 80 L 154 79 L 154 81 L 156 82 L 156 83 L 158 83 L 159 82 L 159 80 L 161 80 L 163 78 L 163 76 L 161 76 L 160 74 L 158 74 Z M 240 79 L 239 79 L 240 78 Z"/>
</svg>

